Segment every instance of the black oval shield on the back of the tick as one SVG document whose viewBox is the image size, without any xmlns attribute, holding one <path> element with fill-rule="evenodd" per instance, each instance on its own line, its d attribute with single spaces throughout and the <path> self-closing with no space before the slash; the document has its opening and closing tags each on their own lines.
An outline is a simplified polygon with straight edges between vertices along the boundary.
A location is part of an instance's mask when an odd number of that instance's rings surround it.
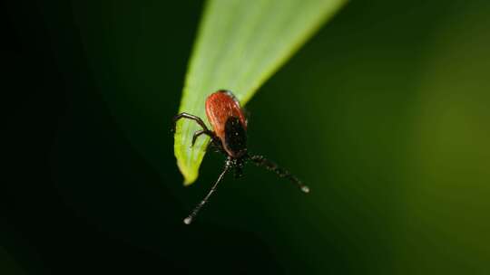
<svg viewBox="0 0 490 275">
<path fill-rule="evenodd" d="M 230 117 L 226 120 L 223 147 L 233 158 L 247 155 L 247 132 L 239 118 Z"/>
</svg>

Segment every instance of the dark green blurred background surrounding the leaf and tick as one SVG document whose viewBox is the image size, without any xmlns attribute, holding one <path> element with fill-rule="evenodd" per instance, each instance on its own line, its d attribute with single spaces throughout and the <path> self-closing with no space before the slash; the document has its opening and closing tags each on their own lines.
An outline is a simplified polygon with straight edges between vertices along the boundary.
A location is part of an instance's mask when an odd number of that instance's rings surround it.
<svg viewBox="0 0 490 275">
<path fill-rule="evenodd" d="M 351 1 L 247 106 L 311 194 L 248 166 L 184 226 L 223 161 L 183 187 L 169 131 L 202 5 L 2 6 L 0 274 L 490 274 L 490 2 Z"/>
</svg>

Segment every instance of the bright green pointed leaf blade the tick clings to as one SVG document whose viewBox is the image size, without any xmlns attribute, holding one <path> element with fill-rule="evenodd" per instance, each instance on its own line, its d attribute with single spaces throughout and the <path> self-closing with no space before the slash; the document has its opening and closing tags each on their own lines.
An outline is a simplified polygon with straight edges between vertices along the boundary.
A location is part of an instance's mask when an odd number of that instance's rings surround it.
<svg viewBox="0 0 490 275">
<path fill-rule="evenodd" d="M 346 0 L 211 0 L 201 19 L 182 92 L 180 112 L 201 117 L 204 102 L 220 89 L 232 90 L 244 105 L 260 85 L 284 64 Z M 184 185 L 198 177 L 209 143 L 200 129 L 181 119 L 175 133 L 175 156 Z"/>
</svg>

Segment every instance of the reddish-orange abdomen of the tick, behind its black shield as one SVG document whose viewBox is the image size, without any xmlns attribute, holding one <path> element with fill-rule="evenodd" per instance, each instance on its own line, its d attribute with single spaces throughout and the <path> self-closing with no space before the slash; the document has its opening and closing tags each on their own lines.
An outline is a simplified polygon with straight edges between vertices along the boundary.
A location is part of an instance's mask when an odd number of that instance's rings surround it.
<svg viewBox="0 0 490 275">
<path fill-rule="evenodd" d="M 243 128 L 247 129 L 240 103 L 234 99 L 229 91 L 219 90 L 208 97 L 206 100 L 206 116 L 208 116 L 214 133 L 220 137 L 221 141 L 224 141 L 226 121 L 230 118 L 240 119 Z"/>
</svg>

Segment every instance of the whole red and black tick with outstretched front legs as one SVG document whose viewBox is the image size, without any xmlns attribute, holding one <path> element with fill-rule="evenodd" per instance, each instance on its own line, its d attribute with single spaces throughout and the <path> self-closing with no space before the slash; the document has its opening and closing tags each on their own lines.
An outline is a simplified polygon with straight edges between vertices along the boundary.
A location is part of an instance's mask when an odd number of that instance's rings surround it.
<svg viewBox="0 0 490 275">
<path fill-rule="evenodd" d="M 303 185 L 299 179 L 291 175 L 288 170 L 280 168 L 275 163 L 266 159 L 264 156 L 251 156 L 247 152 L 247 119 L 240 108 L 240 102 L 230 90 L 218 90 L 206 99 L 206 116 L 211 123 L 212 130 L 206 127 L 201 118 L 188 113 L 180 113 L 173 118 L 173 131 L 175 131 L 179 119 L 191 119 L 201 126 L 192 136 L 191 146 L 194 146 L 198 137 L 207 135 L 211 137 L 209 145 L 227 156 L 223 171 L 212 185 L 210 192 L 204 197 L 191 214 L 183 220 L 185 224 L 190 224 L 195 218 L 201 207 L 206 204 L 216 191 L 216 187 L 223 176 L 230 170 L 235 170 L 235 177 L 242 175 L 243 166 L 247 161 L 253 162 L 257 166 L 263 166 L 275 172 L 280 177 L 285 177 L 289 181 L 298 185 L 304 193 L 309 193 L 309 187 Z"/>
</svg>

